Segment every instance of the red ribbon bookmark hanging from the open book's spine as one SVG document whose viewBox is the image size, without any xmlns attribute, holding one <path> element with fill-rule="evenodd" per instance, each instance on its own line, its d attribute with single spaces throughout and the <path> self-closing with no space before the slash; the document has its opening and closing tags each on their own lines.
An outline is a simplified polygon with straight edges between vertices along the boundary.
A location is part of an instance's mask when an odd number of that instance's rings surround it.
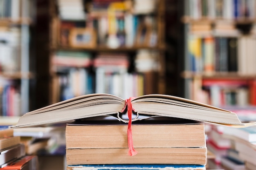
<svg viewBox="0 0 256 170">
<path fill-rule="evenodd" d="M 128 113 L 128 129 L 127 129 L 127 135 L 128 135 L 128 147 L 129 147 L 129 152 L 128 154 L 130 156 L 134 156 L 137 154 L 137 151 L 133 147 L 133 141 L 132 141 L 132 102 L 131 102 L 131 97 L 129 99 L 126 99 L 127 103 L 127 113 Z"/>
</svg>

